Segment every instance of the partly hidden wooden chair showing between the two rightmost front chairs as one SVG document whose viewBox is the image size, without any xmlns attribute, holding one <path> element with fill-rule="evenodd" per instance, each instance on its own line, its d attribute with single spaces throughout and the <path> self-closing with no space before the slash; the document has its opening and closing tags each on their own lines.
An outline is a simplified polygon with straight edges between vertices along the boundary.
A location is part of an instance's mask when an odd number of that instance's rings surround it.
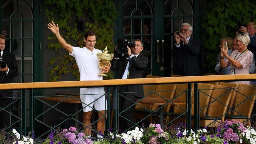
<svg viewBox="0 0 256 144">
<path fill-rule="evenodd" d="M 231 93 L 231 98 L 228 103 L 228 109 L 227 109 L 227 112 L 229 112 L 228 114 L 231 114 L 231 109 L 234 106 L 234 99 L 236 97 L 237 88 L 238 88 L 239 84 L 238 83 L 220 82 L 219 85 L 232 87 L 232 89 L 230 89 L 232 91 L 232 93 Z"/>
</svg>

